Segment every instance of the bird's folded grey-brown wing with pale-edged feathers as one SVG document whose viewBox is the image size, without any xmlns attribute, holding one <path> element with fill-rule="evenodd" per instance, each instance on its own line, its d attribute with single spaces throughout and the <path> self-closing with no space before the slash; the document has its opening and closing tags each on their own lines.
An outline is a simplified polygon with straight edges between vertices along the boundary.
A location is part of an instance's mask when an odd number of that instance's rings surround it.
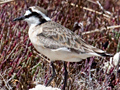
<svg viewBox="0 0 120 90">
<path fill-rule="evenodd" d="M 37 36 L 46 48 L 58 49 L 66 47 L 76 53 L 103 53 L 104 51 L 88 45 L 78 35 L 56 22 L 41 24 L 42 32 Z"/>
</svg>

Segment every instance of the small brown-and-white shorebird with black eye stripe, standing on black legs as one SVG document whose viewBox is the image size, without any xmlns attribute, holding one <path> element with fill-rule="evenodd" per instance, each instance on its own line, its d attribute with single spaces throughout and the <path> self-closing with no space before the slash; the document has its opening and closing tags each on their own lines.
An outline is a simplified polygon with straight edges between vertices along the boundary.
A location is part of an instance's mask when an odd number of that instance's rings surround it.
<svg viewBox="0 0 120 90">
<path fill-rule="evenodd" d="M 46 9 L 39 6 L 30 6 L 25 14 L 13 21 L 26 21 L 29 25 L 28 35 L 34 48 L 51 61 L 52 75 L 46 86 L 56 76 L 54 61 L 64 62 L 64 86 L 67 85 L 67 62 L 80 62 L 88 57 L 112 57 L 105 51 L 87 44 L 79 35 L 63 25 L 52 21 Z"/>
</svg>

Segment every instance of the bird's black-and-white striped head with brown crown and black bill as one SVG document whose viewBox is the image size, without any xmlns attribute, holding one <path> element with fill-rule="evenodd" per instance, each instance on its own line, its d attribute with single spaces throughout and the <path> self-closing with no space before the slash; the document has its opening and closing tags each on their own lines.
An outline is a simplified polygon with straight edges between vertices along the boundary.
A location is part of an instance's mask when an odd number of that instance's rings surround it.
<svg viewBox="0 0 120 90">
<path fill-rule="evenodd" d="M 50 21 L 51 19 L 47 16 L 47 10 L 39 6 L 32 6 L 26 10 L 24 16 L 14 19 L 14 21 L 20 20 L 26 21 L 29 25 L 38 25 Z"/>
</svg>

